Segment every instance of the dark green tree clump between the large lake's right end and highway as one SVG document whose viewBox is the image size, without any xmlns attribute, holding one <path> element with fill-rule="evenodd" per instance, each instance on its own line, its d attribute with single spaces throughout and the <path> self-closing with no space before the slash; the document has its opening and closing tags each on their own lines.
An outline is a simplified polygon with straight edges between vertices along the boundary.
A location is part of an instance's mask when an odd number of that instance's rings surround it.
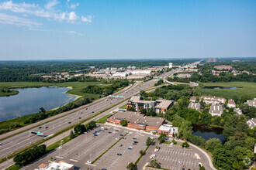
<svg viewBox="0 0 256 170">
<path fill-rule="evenodd" d="M 118 90 L 121 87 L 127 87 L 129 85 L 129 80 L 127 79 L 111 79 L 109 80 L 109 83 L 111 85 L 109 86 L 96 86 L 96 85 L 88 85 L 81 91 L 83 93 L 95 93 L 95 94 L 102 94 L 104 96 L 107 96 L 109 94 L 112 94 L 114 91 Z"/>
</svg>

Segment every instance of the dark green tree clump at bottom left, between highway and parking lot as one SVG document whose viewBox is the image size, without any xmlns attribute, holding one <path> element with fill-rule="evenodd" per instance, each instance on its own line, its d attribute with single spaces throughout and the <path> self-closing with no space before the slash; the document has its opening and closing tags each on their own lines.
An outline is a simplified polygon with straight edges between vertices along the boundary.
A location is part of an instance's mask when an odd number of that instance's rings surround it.
<svg viewBox="0 0 256 170">
<path fill-rule="evenodd" d="M 16 165 L 19 166 L 27 165 L 45 155 L 47 153 L 46 148 L 46 145 L 34 146 L 32 149 L 29 149 L 29 151 L 24 151 L 16 155 L 16 157 L 13 158 L 13 162 L 16 162 Z"/>
</svg>

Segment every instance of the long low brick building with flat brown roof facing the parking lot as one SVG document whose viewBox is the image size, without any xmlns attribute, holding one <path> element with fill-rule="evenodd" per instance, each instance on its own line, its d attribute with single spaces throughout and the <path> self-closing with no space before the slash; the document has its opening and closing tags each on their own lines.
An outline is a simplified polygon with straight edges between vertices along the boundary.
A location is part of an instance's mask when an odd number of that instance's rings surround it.
<svg viewBox="0 0 256 170">
<path fill-rule="evenodd" d="M 140 114 L 140 112 L 133 111 L 118 111 L 116 114 L 107 118 L 107 122 L 110 124 L 120 124 L 123 120 L 127 121 L 128 128 L 152 132 L 157 132 L 160 126 L 165 123 L 164 118 L 147 117 L 144 114 Z"/>
</svg>

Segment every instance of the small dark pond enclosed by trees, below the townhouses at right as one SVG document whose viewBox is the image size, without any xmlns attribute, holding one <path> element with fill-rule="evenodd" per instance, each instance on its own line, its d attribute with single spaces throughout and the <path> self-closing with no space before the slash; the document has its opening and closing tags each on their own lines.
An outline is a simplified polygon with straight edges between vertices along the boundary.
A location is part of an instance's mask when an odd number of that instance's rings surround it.
<svg viewBox="0 0 256 170">
<path fill-rule="evenodd" d="M 222 128 L 207 128 L 201 124 L 192 124 L 193 131 L 192 134 L 195 136 L 201 136 L 202 138 L 206 139 L 209 138 L 219 138 L 221 142 L 224 141 L 224 136 L 222 134 Z"/>
</svg>

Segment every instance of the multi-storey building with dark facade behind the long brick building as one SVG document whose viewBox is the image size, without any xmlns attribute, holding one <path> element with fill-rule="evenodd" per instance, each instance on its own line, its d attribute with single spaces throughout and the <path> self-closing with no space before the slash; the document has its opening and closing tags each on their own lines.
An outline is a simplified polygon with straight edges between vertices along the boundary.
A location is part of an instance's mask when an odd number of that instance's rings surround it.
<svg viewBox="0 0 256 170">
<path fill-rule="evenodd" d="M 148 110 L 149 108 L 153 108 L 157 114 L 166 113 L 166 111 L 173 105 L 173 100 L 143 100 L 143 97 L 133 96 L 128 100 L 126 108 L 134 107 L 136 111 L 140 111 L 141 109 Z"/>
</svg>

